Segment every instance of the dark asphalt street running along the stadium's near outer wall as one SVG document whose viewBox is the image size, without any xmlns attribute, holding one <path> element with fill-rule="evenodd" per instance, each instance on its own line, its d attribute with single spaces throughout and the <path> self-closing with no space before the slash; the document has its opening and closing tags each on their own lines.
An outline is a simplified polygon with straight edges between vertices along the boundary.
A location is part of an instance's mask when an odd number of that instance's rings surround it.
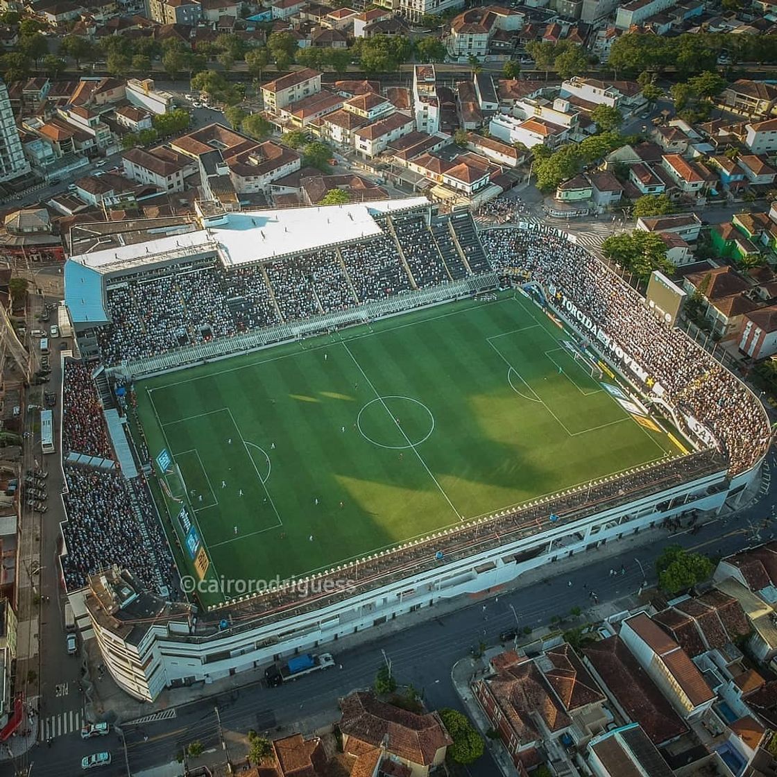
<svg viewBox="0 0 777 777">
<path fill-rule="evenodd" d="M 769 466 L 775 467 L 774 455 Z M 172 756 L 189 742 L 199 739 L 207 748 L 218 747 L 218 721 L 225 737 L 231 742 L 231 754 L 242 754 L 242 744 L 235 743 L 232 733 L 244 734 L 249 729 L 267 731 L 270 735 L 290 730 L 309 731 L 324 720 L 337 720 L 337 699 L 355 688 L 372 684 L 378 667 L 384 662 L 383 653 L 392 662 L 392 673 L 400 683 L 412 683 L 423 695 L 430 709 L 445 706 L 463 709 L 451 683 L 451 667 L 469 654 L 479 643 L 494 644 L 504 629 L 516 625 L 538 627 L 554 616 L 563 616 L 570 608 L 580 607 L 584 618 L 590 615 L 590 591 L 595 591 L 599 605 L 618 598 L 636 595 L 643 584 L 643 571 L 648 584 L 654 581 L 653 566 L 664 545 L 677 542 L 687 548 L 699 549 L 710 556 L 726 555 L 747 545 L 758 544 L 771 535 L 772 510 L 777 503 L 777 489 L 770 480 L 761 500 L 744 507 L 737 514 L 713 521 L 692 535 L 684 531 L 669 535 L 657 530 L 646 535 L 646 544 L 610 558 L 601 558 L 567 571 L 559 562 L 551 577 L 531 587 L 503 592 L 487 600 L 479 600 L 451 614 L 435 617 L 427 611 L 426 622 L 393 632 L 371 643 L 350 650 L 337 651 L 331 646 L 342 669 L 333 669 L 284 685 L 265 688 L 262 684 L 239 688 L 176 709 L 175 717 L 157 722 L 124 725 L 127 762 L 130 773 L 168 763 Z M 765 519 L 768 525 L 764 528 Z M 615 548 L 614 548 L 615 550 Z M 625 567 L 625 574 L 611 577 L 609 570 Z M 483 604 L 485 601 L 485 610 Z M 515 611 L 515 615 L 514 612 Z M 61 663 L 63 652 L 55 650 Z M 152 710 L 149 710 L 151 713 Z M 172 715 L 172 713 L 167 713 Z M 76 773 L 83 755 L 101 749 L 113 754 L 113 764 L 101 770 L 106 775 L 126 775 L 127 766 L 120 737 L 108 737 L 82 742 L 78 733 L 54 739 L 51 747 L 39 744 L 30 752 L 33 777 L 54 777 Z M 12 772 L 0 772 L 10 774 Z M 469 768 L 471 777 L 494 777 L 497 766 L 489 754 Z"/>
</svg>

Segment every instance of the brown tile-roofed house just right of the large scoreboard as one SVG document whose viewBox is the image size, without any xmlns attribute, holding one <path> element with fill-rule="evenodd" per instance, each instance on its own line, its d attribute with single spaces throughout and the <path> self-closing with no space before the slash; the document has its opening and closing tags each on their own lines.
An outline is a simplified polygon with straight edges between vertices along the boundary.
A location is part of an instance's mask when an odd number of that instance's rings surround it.
<svg viewBox="0 0 777 777">
<path fill-rule="evenodd" d="M 742 293 L 750 288 L 750 284 L 728 266 L 686 275 L 683 285 L 688 294 L 699 291 L 702 295 L 705 317 L 720 337 L 736 335 L 743 316 L 758 307 Z"/>
</svg>

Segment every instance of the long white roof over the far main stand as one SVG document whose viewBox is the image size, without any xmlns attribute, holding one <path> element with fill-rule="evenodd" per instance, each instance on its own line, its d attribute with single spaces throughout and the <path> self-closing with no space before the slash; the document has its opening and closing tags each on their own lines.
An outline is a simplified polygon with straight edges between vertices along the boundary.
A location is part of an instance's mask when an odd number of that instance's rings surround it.
<svg viewBox="0 0 777 777">
<path fill-rule="evenodd" d="M 211 226 L 92 253 L 70 261 L 99 274 L 145 264 L 218 253 L 225 267 L 266 262 L 274 257 L 326 248 L 382 234 L 374 215 L 429 204 L 426 197 L 367 203 L 240 211 L 213 218 Z M 208 220 L 206 219 L 206 222 Z"/>
</svg>

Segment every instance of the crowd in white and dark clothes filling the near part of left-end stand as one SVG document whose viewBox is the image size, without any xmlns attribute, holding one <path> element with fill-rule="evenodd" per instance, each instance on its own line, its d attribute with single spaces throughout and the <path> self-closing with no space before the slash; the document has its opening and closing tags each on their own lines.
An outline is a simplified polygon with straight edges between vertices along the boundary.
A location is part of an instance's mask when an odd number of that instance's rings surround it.
<svg viewBox="0 0 777 777">
<path fill-rule="evenodd" d="M 64 476 L 68 520 L 62 528 L 66 551 L 62 568 L 68 590 L 82 587 L 87 576 L 112 564 L 126 567 L 146 587 L 159 590 L 158 559 L 138 524 L 127 481 L 116 471 L 67 465 Z M 166 547 L 159 538 L 156 542 L 160 551 Z"/>
</svg>

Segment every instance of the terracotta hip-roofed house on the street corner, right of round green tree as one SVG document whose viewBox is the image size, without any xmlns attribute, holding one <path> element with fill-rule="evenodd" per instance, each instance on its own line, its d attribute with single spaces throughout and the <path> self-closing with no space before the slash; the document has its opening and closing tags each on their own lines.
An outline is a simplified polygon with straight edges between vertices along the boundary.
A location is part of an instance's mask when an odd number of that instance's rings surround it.
<svg viewBox="0 0 777 777">
<path fill-rule="evenodd" d="M 605 730 L 605 695 L 567 643 L 536 659 L 513 650 L 491 660 L 472 693 L 507 748 L 519 774 L 539 747 L 566 761 L 560 740 L 583 747 Z"/>
</svg>

